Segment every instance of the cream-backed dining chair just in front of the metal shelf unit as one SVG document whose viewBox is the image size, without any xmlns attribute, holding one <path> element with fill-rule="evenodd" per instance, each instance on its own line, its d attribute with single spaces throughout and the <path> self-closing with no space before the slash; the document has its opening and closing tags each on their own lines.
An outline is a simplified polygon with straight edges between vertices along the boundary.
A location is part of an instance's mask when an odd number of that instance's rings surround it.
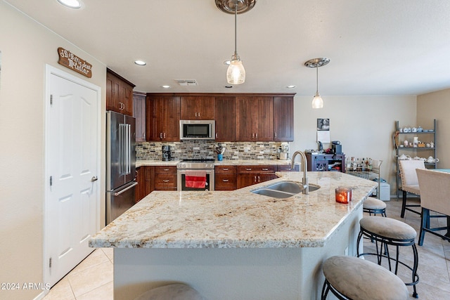
<svg viewBox="0 0 450 300">
<path fill-rule="evenodd" d="M 412 211 L 415 214 L 420 214 L 420 211 L 411 209 L 410 207 L 420 207 L 420 204 L 406 204 L 406 195 L 411 193 L 420 195 L 419 182 L 417 179 L 416 169 L 425 169 L 425 162 L 423 160 L 399 160 L 401 191 L 403 192 L 403 202 L 401 203 L 401 218 L 405 216 L 405 210 Z"/>
</svg>

